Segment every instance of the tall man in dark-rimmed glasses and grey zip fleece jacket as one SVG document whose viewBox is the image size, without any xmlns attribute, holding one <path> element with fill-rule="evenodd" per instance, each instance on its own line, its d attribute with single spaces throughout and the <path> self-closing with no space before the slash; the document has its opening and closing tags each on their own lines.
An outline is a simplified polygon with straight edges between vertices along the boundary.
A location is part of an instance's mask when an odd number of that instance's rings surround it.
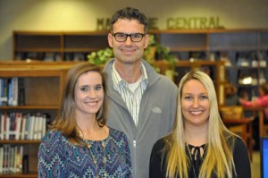
<svg viewBox="0 0 268 178">
<path fill-rule="evenodd" d="M 128 137 L 134 178 L 149 176 L 149 158 L 156 140 L 172 130 L 178 88 L 142 59 L 148 46 L 148 22 L 138 9 L 113 14 L 108 42 L 114 59 L 108 73 L 107 124 Z M 116 161 L 116 160 L 115 160 Z"/>
</svg>

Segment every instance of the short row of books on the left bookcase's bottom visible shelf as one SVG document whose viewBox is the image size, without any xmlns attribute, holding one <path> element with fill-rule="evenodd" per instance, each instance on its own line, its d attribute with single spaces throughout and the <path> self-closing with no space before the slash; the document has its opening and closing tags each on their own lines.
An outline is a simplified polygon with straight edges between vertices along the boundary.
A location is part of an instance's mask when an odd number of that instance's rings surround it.
<svg viewBox="0 0 268 178">
<path fill-rule="evenodd" d="M 0 174 L 22 173 L 23 146 L 0 146 Z"/>
</svg>

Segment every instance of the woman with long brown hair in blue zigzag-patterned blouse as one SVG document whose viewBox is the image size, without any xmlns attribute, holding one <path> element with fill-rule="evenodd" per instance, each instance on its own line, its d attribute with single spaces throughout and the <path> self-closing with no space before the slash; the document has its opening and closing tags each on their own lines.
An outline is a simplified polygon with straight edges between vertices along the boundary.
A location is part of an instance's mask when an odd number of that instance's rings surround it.
<svg viewBox="0 0 268 178">
<path fill-rule="evenodd" d="M 59 112 L 38 150 L 38 177 L 130 177 L 126 135 L 106 126 L 105 74 L 75 64 Z"/>
</svg>

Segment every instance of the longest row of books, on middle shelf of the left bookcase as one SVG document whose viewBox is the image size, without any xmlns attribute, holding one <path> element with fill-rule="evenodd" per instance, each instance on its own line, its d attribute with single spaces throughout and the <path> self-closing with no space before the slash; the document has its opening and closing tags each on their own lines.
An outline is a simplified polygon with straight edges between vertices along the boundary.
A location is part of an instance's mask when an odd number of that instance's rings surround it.
<svg viewBox="0 0 268 178">
<path fill-rule="evenodd" d="M 0 140 L 41 140 L 46 114 L 0 113 Z"/>
</svg>

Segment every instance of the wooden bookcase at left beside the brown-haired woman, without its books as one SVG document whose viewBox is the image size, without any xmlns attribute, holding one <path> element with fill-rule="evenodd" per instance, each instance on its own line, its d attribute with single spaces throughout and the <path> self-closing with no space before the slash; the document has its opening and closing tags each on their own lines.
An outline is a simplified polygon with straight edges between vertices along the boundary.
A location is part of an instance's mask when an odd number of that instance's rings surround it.
<svg viewBox="0 0 268 178">
<path fill-rule="evenodd" d="M 75 63 L 56 62 L 0 62 L 0 78 L 19 77 L 24 79 L 25 105 L 0 106 L 0 113 L 48 113 L 54 118 L 63 81 L 68 69 Z M 23 146 L 23 155 L 29 157 L 29 173 L 0 174 L 0 177 L 38 177 L 38 145 L 40 140 L 0 140 L 0 146 Z M 2 165 L 1 165 L 2 166 Z"/>
</svg>

